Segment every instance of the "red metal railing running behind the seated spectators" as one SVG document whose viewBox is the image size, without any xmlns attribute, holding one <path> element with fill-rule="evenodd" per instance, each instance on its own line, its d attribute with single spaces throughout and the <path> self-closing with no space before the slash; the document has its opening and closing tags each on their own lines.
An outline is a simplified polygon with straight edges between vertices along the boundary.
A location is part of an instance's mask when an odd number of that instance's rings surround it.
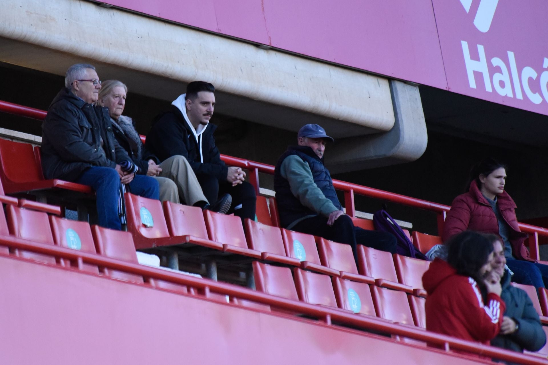
<svg viewBox="0 0 548 365">
<path fill-rule="evenodd" d="M 0 101 L 0 111 L 5 113 L 15 114 L 30 117 L 32 119 L 43 120 L 46 112 L 39 109 L 33 109 L 25 107 L 24 105 L 8 103 Z M 144 140 L 144 136 L 141 136 Z M 223 161 L 231 166 L 241 167 L 249 170 L 249 181 L 257 193 L 259 192 L 259 173 L 273 174 L 274 167 L 260 162 L 244 160 L 243 158 L 237 158 L 232 156 L 221 155 Z M 333 185 L 335 189 L 341 190 L 344 192 L 345 197 L 345 207 L 346 213 L 350 216 L 355 216 L 355 204 L 354 204 L 354 195 L 363 195 L 370 198 L 384 199 L 385 201 L 406 205 L 408 207 L 414 207 L 424 210 L 433 211 L 437 214 L 437 225 L 438 225 L 438 234 L 441 236 L 443 231 L 443 222 L 447 215 L 447 212 L 451 208 L 449 205 L 433 203 L 425 201 L 423 199 L 416 199 L 404 195 L 399 195 L 396 193 L 391 193 L 384 190 L 373 189 L 372 187 L 351 184 L 350 182 L 333 180 Z M 538 237 L 548 237 L 548 229 L 533 225 L 528 225 L 526 223 L 519 223 L 520 229 L 523 232 L 529 233 L 529 251 L 532 258 L 539 260 L 539 251 L 538 251 Z"/>
</svg>

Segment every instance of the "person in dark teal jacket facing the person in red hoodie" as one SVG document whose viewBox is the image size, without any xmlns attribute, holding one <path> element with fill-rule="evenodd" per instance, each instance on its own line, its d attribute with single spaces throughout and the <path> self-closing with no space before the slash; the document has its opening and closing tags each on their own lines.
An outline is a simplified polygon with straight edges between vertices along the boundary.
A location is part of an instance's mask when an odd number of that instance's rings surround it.
<svg viewBox="0 0 548 365">
<path fill-rule="evenodd" d="M 491 340 L 491 344 L 516 352 L 538 351 L 546 343 L 546 333 L 543 331 L 539 315 L 527 292 L 510 285 L 512 274 L 505 268 L 504 244 L 500 238 L 489 234 L 488 239 L 493 242 L 494 247 L 491 267 L 501 277 L 503 291 L 500 297 L 506 303 L 500 332 Z"/>
</svg>

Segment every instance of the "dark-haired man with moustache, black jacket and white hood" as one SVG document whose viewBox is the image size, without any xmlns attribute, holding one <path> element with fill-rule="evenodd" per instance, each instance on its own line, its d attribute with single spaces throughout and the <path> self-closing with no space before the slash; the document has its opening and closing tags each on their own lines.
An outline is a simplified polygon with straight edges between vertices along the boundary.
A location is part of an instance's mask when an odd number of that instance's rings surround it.
<svg viewBox="0 0 548 365">
<path fill-rule="evenodd" d="M 160 161 L 181 155 L 189 161 L 208 201 L 219 194 L 232 196 L 230 213 L 243 219 L 255 219 L 256 193 L 244 181 L 246 173 L 228 167 L 221 160 L 213 136 L 216 126 L 209 120 L 215 106 L 215 87 L 204 81 L 192 81 L 186 93 L 172 103 L 172 109 L 156 117 L 146 136 L 147 148 Z"/>
</svg>

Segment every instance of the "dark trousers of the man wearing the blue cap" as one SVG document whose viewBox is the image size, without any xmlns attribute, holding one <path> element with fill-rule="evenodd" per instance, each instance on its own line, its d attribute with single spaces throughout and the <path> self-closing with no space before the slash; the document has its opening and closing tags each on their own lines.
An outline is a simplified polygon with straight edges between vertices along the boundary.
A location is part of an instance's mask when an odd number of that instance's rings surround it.
<svg viewBox="0 0 548 365">
<path fill-rule="evenodd" d="M 325 239 L 346 243 L 352 246 L 354 258 L 357 260 L 356 245 L 361 244 L 375 250 L 388 251 L 396 253 L 396 237 L 388 232 L 367 231 L 366 229 L 355 227 L 350 216 L 341 215 L 333 226 L 327 225 L 327 217 L 315 216 L 304 219 L 291 228 L 293 231 L 313 234 L 314 236 Z"/>
</svg>

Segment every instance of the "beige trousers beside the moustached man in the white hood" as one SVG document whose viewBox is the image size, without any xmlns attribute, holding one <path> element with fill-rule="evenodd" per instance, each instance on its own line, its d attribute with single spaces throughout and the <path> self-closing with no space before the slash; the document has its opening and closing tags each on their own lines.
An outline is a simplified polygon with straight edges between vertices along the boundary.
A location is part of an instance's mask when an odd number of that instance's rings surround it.
<svg viewBox="0 0 548 365">
<path fill-rule="evenodd" d="M 162 172 L 153 176 L 160 186 L 160 200 L 194 205 L 208 202 L 202 192 L 196 174 L 186 158 L 180 155 L 169 157 L 160 164 Z"/>
</svg>

